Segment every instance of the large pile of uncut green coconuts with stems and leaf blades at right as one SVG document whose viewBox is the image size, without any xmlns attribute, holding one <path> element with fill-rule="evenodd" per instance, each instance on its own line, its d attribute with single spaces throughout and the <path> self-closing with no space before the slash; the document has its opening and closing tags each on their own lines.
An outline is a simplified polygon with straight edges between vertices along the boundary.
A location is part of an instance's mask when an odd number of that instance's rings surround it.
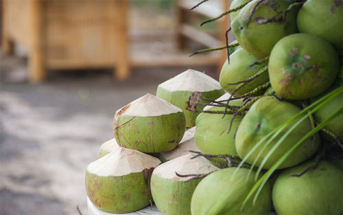
<svg viewBox="0 0 343 215">
<path fill-rule="evenodd" d="M 191 213 L 342 214 L 343 1 L 233 0 L 202 25 L 227 14 L 237 42 L 194 53 L 227 49 L 229 94 L 200 111 L 194 138 L 226 164 L 198 184 Z"/>
</svg>

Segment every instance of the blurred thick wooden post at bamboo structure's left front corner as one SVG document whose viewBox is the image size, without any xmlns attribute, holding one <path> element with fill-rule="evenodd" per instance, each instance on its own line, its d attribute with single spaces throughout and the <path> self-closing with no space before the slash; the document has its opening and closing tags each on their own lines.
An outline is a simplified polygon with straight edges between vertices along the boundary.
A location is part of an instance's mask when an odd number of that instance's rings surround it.
<svg viewBox="0 0 343 215">
<path fill-rule="evenodd" d="M 43 52 L 43 23 L 42 6 L 44 1 L 32 1 L 31 21 L 31 49 L 29 50 L 29 80 L 42 82 L 45 79 L 44 52 Z"/>
</svg>

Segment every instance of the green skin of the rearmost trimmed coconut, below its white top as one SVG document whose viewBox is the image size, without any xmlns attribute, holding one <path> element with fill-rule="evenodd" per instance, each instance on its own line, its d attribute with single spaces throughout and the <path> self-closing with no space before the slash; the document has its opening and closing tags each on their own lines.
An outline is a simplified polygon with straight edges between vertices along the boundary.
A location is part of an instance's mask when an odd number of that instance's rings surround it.
<svg viewBox="0 0 343 215">
<path fill-rule="evenodd" d="M 191 96 L 193 92 L 191 91 L 174 91 L 170 92 L 162 87 L 157 87 L 156 96 L 158 98 L 162 98 L 163 100 L 166 100 L 167 102 L 170 102 L 171 104 L 174 104 L 178 108 L 182 109 L 183 113 L 185 113 L 186 117 L 186 127 L 191 128 L 196 125 L 196 117 L 199 115 L 199 113 L 194 113 L 189 110 L 187 110 L 187 102 L 189 101 L 189 97 Z M 217 98 L 220 98 L 224 94 L 223 89 L 215 89 L 213 91 L 205 91 L 202 92 L 202 98 L 208 98 L 215 100 Z M 209 101 L 204 101 L 200 99 L 198 103 L 206 103 L 208 104 Z M 204 109 L 204 105 L 197 105 L 196 109 L 198 111 L 202 111 Z"/>
</svg>

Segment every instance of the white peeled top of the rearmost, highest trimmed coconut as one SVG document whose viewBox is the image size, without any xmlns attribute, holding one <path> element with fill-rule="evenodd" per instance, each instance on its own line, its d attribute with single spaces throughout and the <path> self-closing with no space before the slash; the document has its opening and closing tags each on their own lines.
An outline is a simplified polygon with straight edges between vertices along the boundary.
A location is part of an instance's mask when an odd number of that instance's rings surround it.
<svg viewBox="0 0 343 215">
<path fill-rule="evenodd" d="M 158 87 L 174 92 L 174 91 L 213 91 L 215 89 L 222 89 L 220 83 L 217 80 L 207 76 L 205 73 L 196 71 L 193 69 L 188 69 L 174 78 L 171 78 L 162 84 L 159 84 Z"/>
</svg>

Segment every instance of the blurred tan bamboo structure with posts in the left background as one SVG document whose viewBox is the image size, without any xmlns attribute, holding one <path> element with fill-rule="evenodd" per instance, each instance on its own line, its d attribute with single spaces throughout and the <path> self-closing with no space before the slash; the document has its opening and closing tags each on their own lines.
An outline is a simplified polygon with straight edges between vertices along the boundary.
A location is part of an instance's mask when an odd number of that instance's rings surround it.
<svg viewBox="0 0 343 215">
<path fill-rule="evenodd" d="M 3 0 L 2 12 L 3 52 L 27 49 L 32 82 L 47 69 L 115 67 L 128 77 L 127 1 Z"/>
</svg>

